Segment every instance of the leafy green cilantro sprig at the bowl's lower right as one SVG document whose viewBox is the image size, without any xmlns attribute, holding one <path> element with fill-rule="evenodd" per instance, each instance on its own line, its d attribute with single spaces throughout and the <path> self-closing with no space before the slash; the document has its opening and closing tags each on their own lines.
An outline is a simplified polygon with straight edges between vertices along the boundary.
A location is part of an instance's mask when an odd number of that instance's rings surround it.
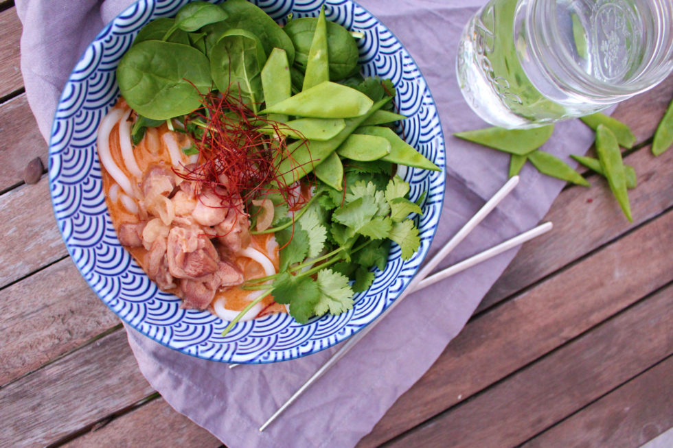
<svg viewBox="0 0 673 448">
<path fill-rule="evenodd" d="M 251 279 L 242 286 L 260 290 L 227 326 L 264 297 L 289 305 L 299 323 L 313 316 L 341 314 L 353 307 L 353 296 L 374 281 L 374 268 L 385 269 L 391 241 L 400 246 L 402 259 L 420 247 L 418 228 L 411 215 L 420 205 L 409 200 L 409 184 L 386 169 L 347 168 L 346 191 L 335 191 L 318 181 L 312 198 L 292 220 L 274 217 L 273 231 L 280 251 L 277 274 Z M 286 213 L 277 207 L 275 212 Z"/>
</svg>

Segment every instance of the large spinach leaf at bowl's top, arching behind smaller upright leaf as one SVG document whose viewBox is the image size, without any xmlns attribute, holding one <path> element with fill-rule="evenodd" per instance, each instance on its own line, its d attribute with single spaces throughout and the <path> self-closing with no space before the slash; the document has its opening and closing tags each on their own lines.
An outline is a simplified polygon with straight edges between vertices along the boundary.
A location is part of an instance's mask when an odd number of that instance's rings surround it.
<svg viewBox="0 0 673 448">
<path fill-rule="evenodd" d="M 207 54 L 219 38 L 232 28 L 247 30 L 257 36 L 264 47 L 264 54 L 269 56 L 274 48 L 284 49 L 290 65 L 295 62 L 295 47 L 292 40 L 266 12 L 247 0 L 227 0 L 220 5 L 229 17 L 225 21 L 207 25 L 204 31 L 208 33 L 206 38 Z"/>
</svg>

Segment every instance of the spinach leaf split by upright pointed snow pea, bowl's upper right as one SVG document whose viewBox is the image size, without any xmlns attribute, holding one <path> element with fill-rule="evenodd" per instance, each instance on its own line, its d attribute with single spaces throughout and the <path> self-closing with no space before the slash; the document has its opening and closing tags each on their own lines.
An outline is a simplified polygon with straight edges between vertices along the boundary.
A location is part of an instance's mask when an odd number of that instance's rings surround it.
<svg viewBox="0 0 673 448">
<path fill-rule="evenodd" d="M 283 28 L 297 50 L 295 64 L 303 71 L 306 71 L 317 23 L 316 17 L 302 17 L 293 19 Z M 339 81 L 358 71 L 358 45 L 350 32 L 338 23 L 327 22 L 327 48 L 330 80 Z"/>
</svg>

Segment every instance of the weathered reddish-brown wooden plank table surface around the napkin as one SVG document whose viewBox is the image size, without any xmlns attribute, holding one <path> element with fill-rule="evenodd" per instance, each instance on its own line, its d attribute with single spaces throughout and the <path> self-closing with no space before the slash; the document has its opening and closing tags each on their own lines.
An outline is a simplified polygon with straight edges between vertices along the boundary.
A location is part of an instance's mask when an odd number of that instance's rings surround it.
<svg viewBox="0 0 673 448">
<path fill-rule="evenodd" d="M 47 145 L 0 0 L 0 446 L 218 447 L 140 374 L 117 317 L 56 228 Z M 637 447 L 673 427 L 673 150 L 654 128 L 673 77 L 621 104 L 637 145 L 634 222 L 606 182 L 567 187 L 434 366 L 358 447 Z M 582 154 L 586 148 L 577 148 Z"/>
</svg>

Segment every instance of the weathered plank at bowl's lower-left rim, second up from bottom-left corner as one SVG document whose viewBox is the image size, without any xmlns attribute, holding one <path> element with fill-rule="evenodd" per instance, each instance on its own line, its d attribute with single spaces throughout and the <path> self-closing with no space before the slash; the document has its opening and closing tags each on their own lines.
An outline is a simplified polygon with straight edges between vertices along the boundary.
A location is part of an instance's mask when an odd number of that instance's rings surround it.
<svg viewBox="0 0 673 448">
<path fill-rule="evenodd" d="M 69 258 L 0 290 L 0 386 L 117 324 Z"/>
</svg>

